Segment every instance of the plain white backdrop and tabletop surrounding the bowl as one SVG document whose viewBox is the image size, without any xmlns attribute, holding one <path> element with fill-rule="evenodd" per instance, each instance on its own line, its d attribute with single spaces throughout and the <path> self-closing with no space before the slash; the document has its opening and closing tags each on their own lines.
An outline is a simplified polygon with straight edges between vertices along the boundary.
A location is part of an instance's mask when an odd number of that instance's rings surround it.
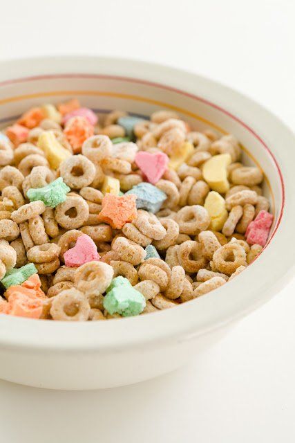
<svg viewBox="0 0 295 443">
<path fill-rule="evenodd" d="M 1 6 L 1 59 L 88 53 L 171 64 L 246 93 L 295 128 L 294 0 Z M 0 441 L 293 443 L 294 291 L 293 281 L 202 361 L 153 381 L 91 392 L 0 381 Z"/>
</svg>

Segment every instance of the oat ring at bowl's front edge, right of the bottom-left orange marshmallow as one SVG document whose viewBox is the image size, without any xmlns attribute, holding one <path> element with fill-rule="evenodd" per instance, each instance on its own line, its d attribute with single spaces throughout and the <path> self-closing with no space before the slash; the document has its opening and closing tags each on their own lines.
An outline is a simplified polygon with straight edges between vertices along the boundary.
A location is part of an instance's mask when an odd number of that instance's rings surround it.
<svg viewBox="0 0 295 443">
<path fill-rule="evenodd" d="M 90 309 L 84 294 L 71 288 L 53 298 L 50 315 L 53 320 L 85 321 L 88 320 Z"/>
</svg>

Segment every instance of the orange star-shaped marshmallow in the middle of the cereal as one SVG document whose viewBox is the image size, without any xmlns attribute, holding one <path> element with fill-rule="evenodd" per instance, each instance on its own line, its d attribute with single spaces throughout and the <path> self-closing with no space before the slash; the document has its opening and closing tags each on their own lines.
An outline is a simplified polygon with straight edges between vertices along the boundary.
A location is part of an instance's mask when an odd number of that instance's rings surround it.
<svg viewBox="0 0 295 443">
<path fill-rule="evenodd" d="M 106 194 L 102 199 L 102 210 L 97 215 L 97 221 L 105 221 L 114 229 L 122 229 L 125 223 L 137 217 L 136 195 Z"/>
</svg>

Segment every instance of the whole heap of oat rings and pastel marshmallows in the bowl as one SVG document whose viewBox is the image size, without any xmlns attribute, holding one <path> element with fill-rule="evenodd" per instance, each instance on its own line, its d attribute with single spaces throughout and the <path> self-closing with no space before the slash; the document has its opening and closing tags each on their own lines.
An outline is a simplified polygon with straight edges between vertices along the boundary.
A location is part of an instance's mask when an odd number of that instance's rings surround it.
<svg viewBox="0 0 295 443">
<path fill-rule="evenodd" d="M 29 109 L 0 133 L 0 313 L 135 316 L 229 282 L 273 221 L 240 157 L 234 136 L 171 111 Z"/>
</svg>

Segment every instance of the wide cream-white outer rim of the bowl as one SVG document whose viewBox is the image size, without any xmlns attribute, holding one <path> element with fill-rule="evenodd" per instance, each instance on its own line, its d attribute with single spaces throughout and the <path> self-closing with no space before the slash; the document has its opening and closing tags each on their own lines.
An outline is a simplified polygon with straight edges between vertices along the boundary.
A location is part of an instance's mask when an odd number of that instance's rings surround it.
<svg viewBox="0 0 295 443">
<path fill-rule="evenodd" d="M 289 239 L 295 216 L 295 202 L 292 198 L 292 164 L 295 163 L 295 150 L 292 148 L 295 136 L 274 114 L 251 98 L 220 82 L 209 80 L 196 73 L 151 62 L 120 57 L 61 55 L 4 60 L 0 62 L 0 68 L 0 82 L 2 82 L 0 87 L 5 80 L 10 79 L 12 72 L 21 72 L 19 78 L 23 79 L 26 76 L 61 74 L 68 71 L 77 74 L 85 72 L 94 74 L 99 71 L 108 75 L 135 77 L 157 84 L 166 84 L 168 87 L 196 96 L 201 89 L 202 97 L 222 106 L 222 109 L 229 114 L 238 114 L 238 119 L 250 129 L 254 127 L 259 136 L 265 133 L 269 141 L 267 145 L 278 146 L 279 143 L 283 145 L 284 150 L 280 150 L 279 158 L 277 150 L 276 159 L 285 181 L 284 212 L 276 235 L 263 254 L 256 259 L 255 265 L 249 266 L 229 285 L 220 287 L 205 297 L 186 302 L 177 309 L 159 311 L 148 316 L 124 318 L 120 321 L 113 319 L 106 322 L 50 322 L 3 315 L 0 316 L 1 347 L 41 352 L 46 350 L 119 352 L 142 345 L 159 346 L 168 341 L 180 343 L 213 332 L 218 327 L 249 314 L 287 284 L 292 277 L 295 264 L 295 252 Z M 186 84 L 185 88 L 183 84 Z M 264 139 L 263 136 L 260 138 Z M 249 279 L 254 285 L 249 284 Z"/>
</svg>

